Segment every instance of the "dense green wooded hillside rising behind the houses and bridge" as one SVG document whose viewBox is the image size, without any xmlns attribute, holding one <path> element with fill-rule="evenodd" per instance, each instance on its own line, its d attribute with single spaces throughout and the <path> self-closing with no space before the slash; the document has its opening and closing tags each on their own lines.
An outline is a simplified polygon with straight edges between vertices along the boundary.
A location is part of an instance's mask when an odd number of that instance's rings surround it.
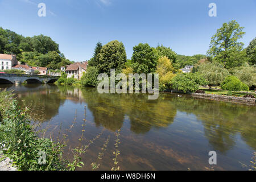
<svg viewBox="0 0 256 182">
<path fill-rule="evenodd" d="M 13 31 L 0 27 L 0 53 L 14 53 L 21 63 L 30 66 L 60 69 L 71 64 L 59 51 L 59 44 L 44 35 L 23 37 Z"/>
</svg>

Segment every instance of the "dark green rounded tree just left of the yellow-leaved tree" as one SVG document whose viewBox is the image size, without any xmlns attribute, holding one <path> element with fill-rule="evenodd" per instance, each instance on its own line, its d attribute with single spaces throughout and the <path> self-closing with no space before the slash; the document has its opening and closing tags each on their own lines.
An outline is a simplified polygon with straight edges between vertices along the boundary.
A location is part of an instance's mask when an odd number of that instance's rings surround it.
<svg viewBox="0 0 256 182">
<path fill-rule="evenodd" d="M 131 61 L 135 73 L 154 73 L 158 64 L 158 51 L 147 43 L 133 47 Z"/>
</svg>

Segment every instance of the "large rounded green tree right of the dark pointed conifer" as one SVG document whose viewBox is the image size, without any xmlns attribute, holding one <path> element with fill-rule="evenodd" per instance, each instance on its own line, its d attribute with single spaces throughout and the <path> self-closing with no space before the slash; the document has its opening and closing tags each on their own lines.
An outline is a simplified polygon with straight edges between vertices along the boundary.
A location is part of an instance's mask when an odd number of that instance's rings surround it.
<svg viewBox="0 0 256 182">
<path fill-rule="evenodd" d="M 99 73 L 108 73 L 110 75 L 110 69 L 116 69 L 120 71 L 125 68 L 126 52 L 125 46 L 118 40 L 113 40 L 104 45 L 101 52 L 98 54 L 97 69 Z"/>
</svg>

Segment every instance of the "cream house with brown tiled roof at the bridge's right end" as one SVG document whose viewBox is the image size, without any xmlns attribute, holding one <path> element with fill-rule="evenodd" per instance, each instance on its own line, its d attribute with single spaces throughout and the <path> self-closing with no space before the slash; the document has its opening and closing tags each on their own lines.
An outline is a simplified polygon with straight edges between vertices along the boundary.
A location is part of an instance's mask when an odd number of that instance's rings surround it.
<svg viewBox="0 0 256 182">
<path fill-rule="evenodd" d="M 86 72 L 88 62 L 77 62 L 69 65 L 65 70 L 65 73 L 68 75 L 68 78 L 74 76 L 78 80 L 81 79 L 82 73 Z"/>
</svg>

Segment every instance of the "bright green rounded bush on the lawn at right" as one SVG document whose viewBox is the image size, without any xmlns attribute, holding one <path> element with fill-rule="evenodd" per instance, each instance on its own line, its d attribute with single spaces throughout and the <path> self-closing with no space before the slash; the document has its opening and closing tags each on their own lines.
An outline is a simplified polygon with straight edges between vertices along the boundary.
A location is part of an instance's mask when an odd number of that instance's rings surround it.
<svg viewBox="0 0 256 182">
<path fill-rule="evenodd" d="M 242 90 L 242 82 L 236 76 L 227 76 L 221 83 L 223 90 L 240 91 Z"/>
</svg>

